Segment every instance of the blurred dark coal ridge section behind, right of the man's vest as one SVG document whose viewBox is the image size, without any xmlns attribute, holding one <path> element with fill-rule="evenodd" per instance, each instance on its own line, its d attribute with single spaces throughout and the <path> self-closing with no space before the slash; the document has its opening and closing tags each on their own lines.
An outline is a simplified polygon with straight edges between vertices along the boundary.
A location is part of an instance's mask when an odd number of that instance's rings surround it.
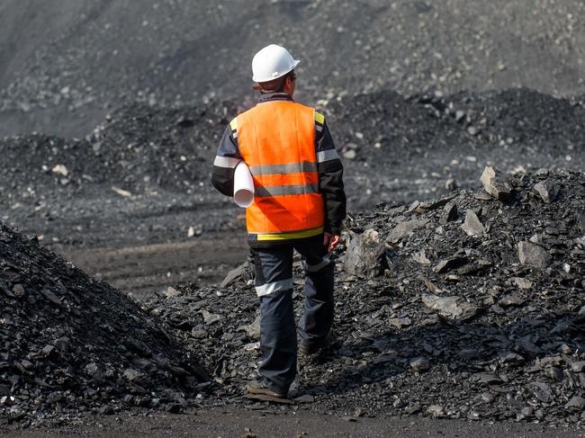
<svg viewBox="0 0 585 438">
<path fill-rule="evenodd" d="M 475 187 L 477 174 L 494 163 L 509 173 L 585 168 L 579 99 L 528 89 L 409 97 L 386 91 L 321 104 L 356 210 Z"/>
</svg>

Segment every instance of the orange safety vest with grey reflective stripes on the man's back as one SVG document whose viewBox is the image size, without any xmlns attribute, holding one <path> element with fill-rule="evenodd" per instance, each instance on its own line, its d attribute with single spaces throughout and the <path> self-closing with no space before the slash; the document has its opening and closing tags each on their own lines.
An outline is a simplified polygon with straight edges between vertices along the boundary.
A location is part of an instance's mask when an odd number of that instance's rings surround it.
<svg viewBox="0 0 585 438">
<path fill-rule="evenodd" d="M 254 180 L 254 202 L 246 210 L 247 232 L 259 241 L 323 232 L 316 117 L 322 118 L 301 103 L 272 101 L 258 103 L 231 122 L 239 152 Z"/>
</svg>

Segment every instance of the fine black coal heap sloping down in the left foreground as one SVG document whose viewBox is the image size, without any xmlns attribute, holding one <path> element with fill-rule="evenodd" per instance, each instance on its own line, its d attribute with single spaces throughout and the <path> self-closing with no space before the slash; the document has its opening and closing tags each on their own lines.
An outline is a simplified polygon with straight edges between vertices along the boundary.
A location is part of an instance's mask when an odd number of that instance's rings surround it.
<svg viewBox="0 0 585 438">
<path fill-rule="evenodd" d="M 0 422 L 180 409 L 195 360 L 120 291 L 0 224 Z"/>
</svg>

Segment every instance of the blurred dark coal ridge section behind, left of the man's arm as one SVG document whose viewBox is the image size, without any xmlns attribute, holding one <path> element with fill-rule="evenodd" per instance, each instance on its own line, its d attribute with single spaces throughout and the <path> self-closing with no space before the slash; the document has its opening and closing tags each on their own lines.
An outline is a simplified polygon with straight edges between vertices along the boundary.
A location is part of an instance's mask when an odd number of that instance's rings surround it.
<svg viewBox="0 0 585 438">
<path fill-rule="evenodd" d="M 207 183 L 227 114 L 225 103 L 181 110 L 133 104 L 112 112 L 84 139 L 6 138 L 0 142 L 5 163 L 0 184 L 22 197 L 91 192 L 88 188 L 103 184 L 132 192 L 193 192 Z"/>
</svg>

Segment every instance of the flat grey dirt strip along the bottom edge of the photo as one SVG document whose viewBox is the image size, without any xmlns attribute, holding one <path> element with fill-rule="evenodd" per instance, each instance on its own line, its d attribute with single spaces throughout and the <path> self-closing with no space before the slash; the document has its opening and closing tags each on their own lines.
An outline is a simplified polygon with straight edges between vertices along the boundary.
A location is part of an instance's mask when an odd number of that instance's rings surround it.
<svg viewBox="0 0 585 438">
<path fill-rule="evenodd" d="M 184 415 L 158 413 L 152 416 L 106 416 L 87 423 L 54 428 L 9 431 L 0 428 L 5 438 L 53 438 L 69 436 L 103 436 L 108 438 L 157 438 L 179 436 L 221 437 L 324 437 L 370 436 L 419 438 L 494 437 L 500 438 L 569 438 L 583 436 L 581 430 L 559 430 L 543 425 L 498 424 L 433 420 L 428 418 L 354 418 L 312 413 L 310 410 L 282 414 L 264 411 L 263 406 L 250 408 L 216 408 L 193 410 Z"/>
</svg>

